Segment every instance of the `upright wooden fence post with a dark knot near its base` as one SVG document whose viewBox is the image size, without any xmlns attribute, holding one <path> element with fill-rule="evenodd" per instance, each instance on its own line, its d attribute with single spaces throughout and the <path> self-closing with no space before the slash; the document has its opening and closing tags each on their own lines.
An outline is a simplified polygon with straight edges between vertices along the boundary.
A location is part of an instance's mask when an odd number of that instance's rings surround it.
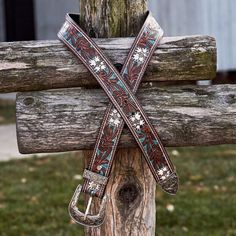
<svg viewBox="0 0 236 236">
<path fill-rule="evenodd" d="M 135 36 L 141 29 L 146 0 L 81 0 L 81 24 L 93 37 Z M 85 165 L 92 152 L 84 151 Z M 138 148 L 119 150 L 107 186 L 110 201 L 99 228 L 86 235 L 154 235 L 156 183 Z M 95 201 L 91 212 L 97 212 Z"/>
</svg>

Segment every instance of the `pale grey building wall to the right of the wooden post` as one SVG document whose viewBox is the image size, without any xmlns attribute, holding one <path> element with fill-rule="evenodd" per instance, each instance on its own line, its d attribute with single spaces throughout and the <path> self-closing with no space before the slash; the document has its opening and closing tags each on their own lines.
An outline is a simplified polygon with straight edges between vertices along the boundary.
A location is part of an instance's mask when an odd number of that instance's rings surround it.
<svg viewBox="0 0 236 236">
<path fill-rule="evenodd" d="M 236 69 L 235 0 L 150 0 L 165 35 L 211 35 L 217 40 L 218 70 Z"/>
</svg>

